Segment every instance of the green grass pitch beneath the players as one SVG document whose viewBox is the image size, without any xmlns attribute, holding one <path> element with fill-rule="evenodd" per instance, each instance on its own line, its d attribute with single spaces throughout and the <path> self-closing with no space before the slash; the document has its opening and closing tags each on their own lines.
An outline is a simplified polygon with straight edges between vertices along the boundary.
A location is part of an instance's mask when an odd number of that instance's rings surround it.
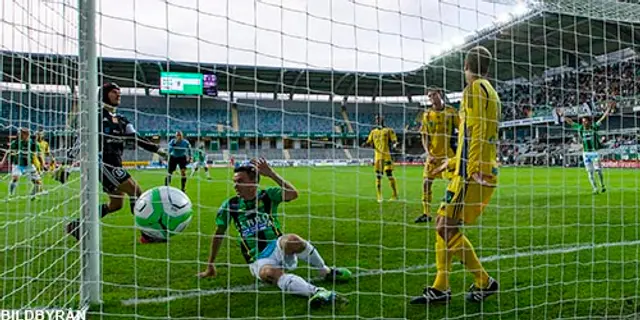
<svg viewBox="0 0 640 320">
<path fill-rule="evenodd" d="M 465 303 L 472 277 L 456 263 L 452 302 L 429 308 L 408 304 L 435 273 L 433 224 L 413 223 L 421 211 L 421 167 L 396 168 L 401 201 L 383 204 L 375 201 L 371 167 L 276 170 L 300 191 L 279 208 L 284 231 L 311 240 L 327 264 L 357 275 L 347 284 L 319 283 L 346 296 L 348 305 L 309 310 L 306 299 L 255 289 L 233 239 L 219 254 L 218 276 L 196 277 L 217 207 L 233 194 L 231 171 L 214 169 L 212 181 L 203 174 L 189 180 L 195 217 L 168 245 L 138 244 L 127 205 L 102 220 L 104 303 L 92 318 L 602 318 L 632 315 L 640 306 L 637 170 L 605 170 L 608 191 L 592 195 L 583 169 L 503 168 L 490 206 L 463 229 L 499 280 L 500 294 Z M 132 174 L 145 189 L 164 179 L 161 171 Z M 79 246 L 63 232 L 81 201 L 77 173 L 73 179 L 61 187 L 47 178 L 50 193 L 38 201 L 0 203 L 0 309 L 78 306 Z M 444 186 L 435 184 L 435 199 Z M 29 187 L 23 180 L 18 191 L 25 195 Z M 383 189 L 388 199 L 386 181 Z M 297 273 L 315 276 L 300 266 Z"/>
</svg>

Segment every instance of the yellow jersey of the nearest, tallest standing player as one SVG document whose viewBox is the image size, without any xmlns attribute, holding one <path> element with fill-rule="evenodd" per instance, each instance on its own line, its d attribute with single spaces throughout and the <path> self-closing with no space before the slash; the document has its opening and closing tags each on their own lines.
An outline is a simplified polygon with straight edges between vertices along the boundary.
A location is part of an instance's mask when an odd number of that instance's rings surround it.
<svg viewBox="0 0 640 320">
<path fill-rule="evenodd" d="M 497 175 L 497 141 L 501 103 L 498 93 L 486 79 L 476 79 L 462 93 L 456 175 L 470 178 Z"/>
</svg>

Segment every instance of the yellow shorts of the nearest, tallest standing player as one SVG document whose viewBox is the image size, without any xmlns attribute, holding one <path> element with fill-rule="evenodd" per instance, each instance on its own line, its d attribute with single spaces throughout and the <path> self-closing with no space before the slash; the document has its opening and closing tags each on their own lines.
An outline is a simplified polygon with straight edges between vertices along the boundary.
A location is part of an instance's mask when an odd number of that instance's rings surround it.
<svg viewBox="0 0 640 320">
<path fill-rule="evenodd" d="M 494 185 L 497 183 L 495 177 L 485 180 Z M 495 187 L 467 182 L 460 176 L 454 176 L 449 181 L 445 201 L 438 209 L 438 215 L 464 221 L 465 224 L 473 223 L 489 204 L 495 189 Z"/>
</svg>

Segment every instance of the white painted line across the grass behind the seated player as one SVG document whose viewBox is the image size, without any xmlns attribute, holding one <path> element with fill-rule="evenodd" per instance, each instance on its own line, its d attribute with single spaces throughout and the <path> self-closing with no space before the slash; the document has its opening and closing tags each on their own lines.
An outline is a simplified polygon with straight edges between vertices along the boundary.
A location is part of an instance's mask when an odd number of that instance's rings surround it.
<svg viewBox="0 0 640 320">
<path fill-rule="evenodd" d="M 488 257 L 480 258 L 482 262 L 492 262 L 498 260 L 507 260 L 507 259 L 517 259 L 517 258 L 525 258 L 525 257 L 535 257 L 535 256 L 547 256 L 547 255 L 555 255 L 555 254 L 564 254 L 564 253 L 573 253 L 583 250 L 592 250 L 592 249 L 602 249 L 602 248 L 612 248 L 612 247 L 626 247 L 626 246 L 637 246 L 640 245 L 640 240 L 634 241 L 622 241 L 622 242 L 606 242 L 606 243 L 598 243 L 598 244 L 585 244 L 579 246 L 565 247 L 565 248 L 556 248 L 556 249 L 548 249 L 548 250 L 537 250 L 537 251 L 527 251 L 527 252 L 516 252 L 511 254 L 503 254 L 503 255 L 493 255 Z M 415 270 L 422 269 L 430 269 L 435 268 L 435 264 L 423 264 L 423 265 L 415 265 L 406 268 L 400 269 L 377 269 L 377 270 L 368 270 L 359 272 L 353 275 L 353 277 L 367 277 L 367 276 L 375 276 L 380 274 L 391 274 L 391 273 L 404 273 Z M 250 284 L 250 285 L 242 285 L 235 286 L 231 288 L 219 287 L 211 290 L 197 290 L 197 291 L 187 291 L 184 293 L 154 297 L 154 298 L 142 298 L 142 299 L 127 299 L 122 300 L 122 304 L 125 306 L 130 305 L 140 305 L 140 304 L 150 304 L 150 303 L 165 303 L 178 299 L 188 299 L 202 296 L 211 296 L 220 293 L 227 292 L 248 292 L 254 291 L 257 288 L 265 286 L 264 284 Z"/>
</svg>

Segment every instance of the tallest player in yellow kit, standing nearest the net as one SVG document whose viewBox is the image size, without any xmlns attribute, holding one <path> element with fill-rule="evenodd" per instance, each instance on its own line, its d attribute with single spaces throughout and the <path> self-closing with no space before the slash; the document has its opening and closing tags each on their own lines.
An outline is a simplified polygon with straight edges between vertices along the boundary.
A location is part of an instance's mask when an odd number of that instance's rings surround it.
<svg viewBox="0 0 640 320">
<path fill-rule="evenodd" d="M 467 301 L 481 302 L 499 289 L 459 229 L 462 223 L 473 223 L 480 216 L 497 185 L 496 142 L 501 106 L 498 94 L 485 79 L 490 63 L 491 53 L 484 47 L 472 48 L 464 61 L 467 86 L 459 114 L 455 175 L 436 220 L 436 278 L 422 296 L 411 300 L 412 304 L 446 303 L 451 299 L 449 272 L 453 257 L 460 259 L 474 276 Z"/>
</svg>

